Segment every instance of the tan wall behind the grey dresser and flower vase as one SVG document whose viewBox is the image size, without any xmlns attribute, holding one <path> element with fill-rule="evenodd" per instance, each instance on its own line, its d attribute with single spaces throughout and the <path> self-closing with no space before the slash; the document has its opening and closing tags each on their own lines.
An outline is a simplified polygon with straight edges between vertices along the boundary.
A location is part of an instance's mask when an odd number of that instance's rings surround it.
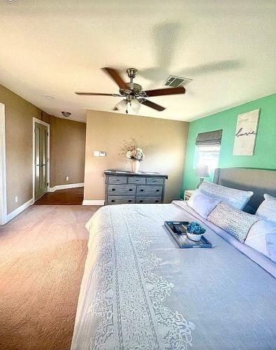
<svg viewBox="0 0 276 350">
<path fill-rule="evenodd" d="M 168 174 L 165 202 L 178 199 L 188 130 L 189 123 L 180 121 L 87 111 L 85 200 L 104 199 L 104 170 L 131 169 L 130 161 L 118 155 L 124 140 L 131 138 L 145 151 L 140 170 Z M 94 157 L 93 151 L 106 151 L 107 156 Z"/>
</svg>

